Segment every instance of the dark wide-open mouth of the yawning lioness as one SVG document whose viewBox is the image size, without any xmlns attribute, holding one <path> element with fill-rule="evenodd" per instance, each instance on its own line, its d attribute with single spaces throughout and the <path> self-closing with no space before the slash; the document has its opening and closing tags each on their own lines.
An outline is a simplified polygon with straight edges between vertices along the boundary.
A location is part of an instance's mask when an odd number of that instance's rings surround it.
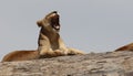
<svg viewBox="0 0 133 76">
<path fill-rule="evenodd" d="M 51 19 L 51 25 L 54 30 L 59 31 L 60 30 L 60 23 L 59 23 L 59 15 L 55 14 L 54 17 L 52 17 Z"/>
</svg>

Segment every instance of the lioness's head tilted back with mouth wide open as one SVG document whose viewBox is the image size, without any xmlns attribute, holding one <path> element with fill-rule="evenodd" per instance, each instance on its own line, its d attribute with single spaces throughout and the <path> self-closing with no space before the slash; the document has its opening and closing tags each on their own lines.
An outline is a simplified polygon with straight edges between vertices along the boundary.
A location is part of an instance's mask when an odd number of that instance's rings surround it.
<svg viewBox="0 0 133 76">
<path fill-rule="evenodd" d="M 47 30 L 54 30 L 57 32 L 60 31 L 60 15 L 57 11 L 53 11 L 45 15 L 42 20 L 38 21 L 38 26 L 45 28 Z"/>
</svg>

